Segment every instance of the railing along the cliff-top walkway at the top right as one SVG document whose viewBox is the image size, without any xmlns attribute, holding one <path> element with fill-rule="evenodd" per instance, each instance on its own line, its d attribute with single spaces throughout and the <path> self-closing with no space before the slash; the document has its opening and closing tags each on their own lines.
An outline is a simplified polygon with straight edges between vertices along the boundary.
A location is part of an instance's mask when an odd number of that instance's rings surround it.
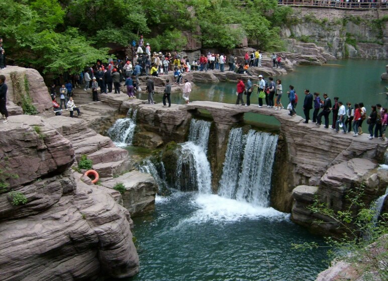
<svg viewBox="0 0 388 281">
<path fill-rule="evenodd" d="M 373 0 L 372 0 L 373 1 Z M 387 0 L 278 0 L 280 6 L 327 7 L 337 9 L 387 9 Z"/>
</svg>

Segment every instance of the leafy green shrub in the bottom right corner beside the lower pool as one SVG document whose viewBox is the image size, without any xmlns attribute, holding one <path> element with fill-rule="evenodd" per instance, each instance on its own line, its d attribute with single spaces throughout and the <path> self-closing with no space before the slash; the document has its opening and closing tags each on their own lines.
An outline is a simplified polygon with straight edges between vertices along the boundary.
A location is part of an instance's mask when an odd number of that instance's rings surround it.
<svg viewBox="0 0 388 281">
<path fill-rule="evenodd" d="M 381 280 L 388 279 L 388 214 L 379 215 L 363 202 L 365 186 L 360 184 L 345 196 L 347 207 L 334 211 L 316 197 L 308 208 L 312 213 L 327 217 L 331 224 L 342 231 L 338 237 L 325 237 L 331 259 L 362 264 L 362 270 L 373 271 Z M 374 218 L 379 216 L 378 221 Z M 316 221 L 317 224 L 328 223 Z M 317 243 L 293 244 L 294 249 L 307 250 L 320 247 Z M 372 250 L 373 249 L 373 250 Z M 377 249 L 377 250 L 376 250 Z M 380 249 L 380 250 L 378 250 Z M 385 250 L 381 250 L 385 249 Z M 350 253 L 350 254 L 349 254 Z M 368 279 L 368 278 L 367 278 Z M 372 279 L 371 279 L 372 280 Z"/>
</svg>

